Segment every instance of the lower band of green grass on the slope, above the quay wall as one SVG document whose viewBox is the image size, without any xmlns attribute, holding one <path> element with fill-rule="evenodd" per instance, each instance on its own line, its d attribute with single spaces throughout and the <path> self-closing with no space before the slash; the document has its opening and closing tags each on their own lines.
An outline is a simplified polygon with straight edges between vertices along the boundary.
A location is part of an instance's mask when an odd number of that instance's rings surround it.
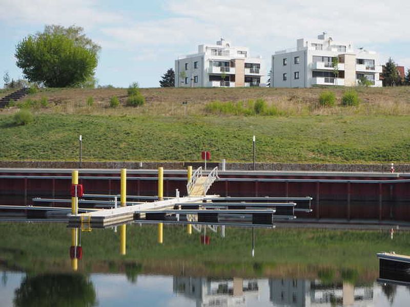
<svg viewBox="0 0 410 307">
<path fill-rule="evenodd" d="M 404 163 L 410 116 L 294 117 L 36 114 L 26 126 L 0 115 L 0 160 L 76 160 L 78 135 L 88 161 Z"/>
</svg>

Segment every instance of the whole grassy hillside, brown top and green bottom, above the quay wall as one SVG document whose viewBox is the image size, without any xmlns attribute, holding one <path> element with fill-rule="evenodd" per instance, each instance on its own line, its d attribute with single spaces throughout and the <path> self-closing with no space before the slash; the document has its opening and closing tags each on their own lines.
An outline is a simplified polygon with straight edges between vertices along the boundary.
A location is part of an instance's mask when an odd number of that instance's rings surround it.
<svg viewBox="0 0 410 307">
<path fill-rule="evenodd" d="M 88 161 L 193 161 L 203 149 L 219 161 L 250 161 L 252 135 L 259 162 L 410 162 L 410 87 L 358 87 L 361 103 L 340 106 L 346 89 L 332 89 L 336 106 L 320 107 L 324 89 L 141 89 L 146 104 L 127 107 L 126 89 L 50 89 L 48 106 L 16 126 L 16 107 L 0 112 L 0 160 L 76 160 L 78 135 Z M 118 108 L 109 100 L 117 96 Z M 87 99 L 93 97 L 93 105 Z M 213 101 L 263 99 L 275 116 L 210 112 Z M 187 101 L 185 110 L 182 101 Z M 185 115 L 186 112 L 186 115 Z"/>
</svg>

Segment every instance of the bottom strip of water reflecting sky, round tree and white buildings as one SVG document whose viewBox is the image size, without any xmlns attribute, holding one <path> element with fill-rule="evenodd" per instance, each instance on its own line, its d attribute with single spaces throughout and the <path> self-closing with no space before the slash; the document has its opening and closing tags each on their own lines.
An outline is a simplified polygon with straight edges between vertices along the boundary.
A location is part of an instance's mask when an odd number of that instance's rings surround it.
<svg viewBox="0 0 410 307">
<path fill-rule="evenodd" d="M 126 273 L 0 272 L 2 306 L 407 306 L 400 284 L 322 282 L 304 278 L 215 278 Z M 138 280 L 138 282 L 136 282 Z"/>
</svg>

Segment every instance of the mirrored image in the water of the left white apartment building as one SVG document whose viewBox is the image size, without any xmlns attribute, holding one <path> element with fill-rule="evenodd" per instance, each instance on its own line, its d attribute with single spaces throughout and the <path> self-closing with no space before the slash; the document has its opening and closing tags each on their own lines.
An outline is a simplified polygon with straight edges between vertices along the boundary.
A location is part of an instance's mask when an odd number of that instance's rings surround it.
<svg viewBox="0 0 410 307">
<path fill-rule="evenodd" d="M 173 278 L 173 291 L 176 294 L 196 300 L 199 307 L 246 306 L 250 296 L 258 296 L 258 281 L 243 278 Z"/>
</svg>

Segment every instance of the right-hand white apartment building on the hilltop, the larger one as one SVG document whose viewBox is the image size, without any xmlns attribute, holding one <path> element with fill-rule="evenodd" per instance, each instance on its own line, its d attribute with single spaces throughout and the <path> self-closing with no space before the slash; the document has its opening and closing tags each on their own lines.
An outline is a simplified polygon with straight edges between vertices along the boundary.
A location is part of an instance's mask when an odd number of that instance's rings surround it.
<svg viewBox="0 0 410 307">
<path fill-rule="evenodd" d="M 323 33 L 317 39 L 298 39 L 296 49 L 272 55 L 271 87 L 356 86 L 363 78 L 371 86 L 382 86 L 381 72 L 376 52 L 354 50 L 351 42 Z"/>
</svg>

